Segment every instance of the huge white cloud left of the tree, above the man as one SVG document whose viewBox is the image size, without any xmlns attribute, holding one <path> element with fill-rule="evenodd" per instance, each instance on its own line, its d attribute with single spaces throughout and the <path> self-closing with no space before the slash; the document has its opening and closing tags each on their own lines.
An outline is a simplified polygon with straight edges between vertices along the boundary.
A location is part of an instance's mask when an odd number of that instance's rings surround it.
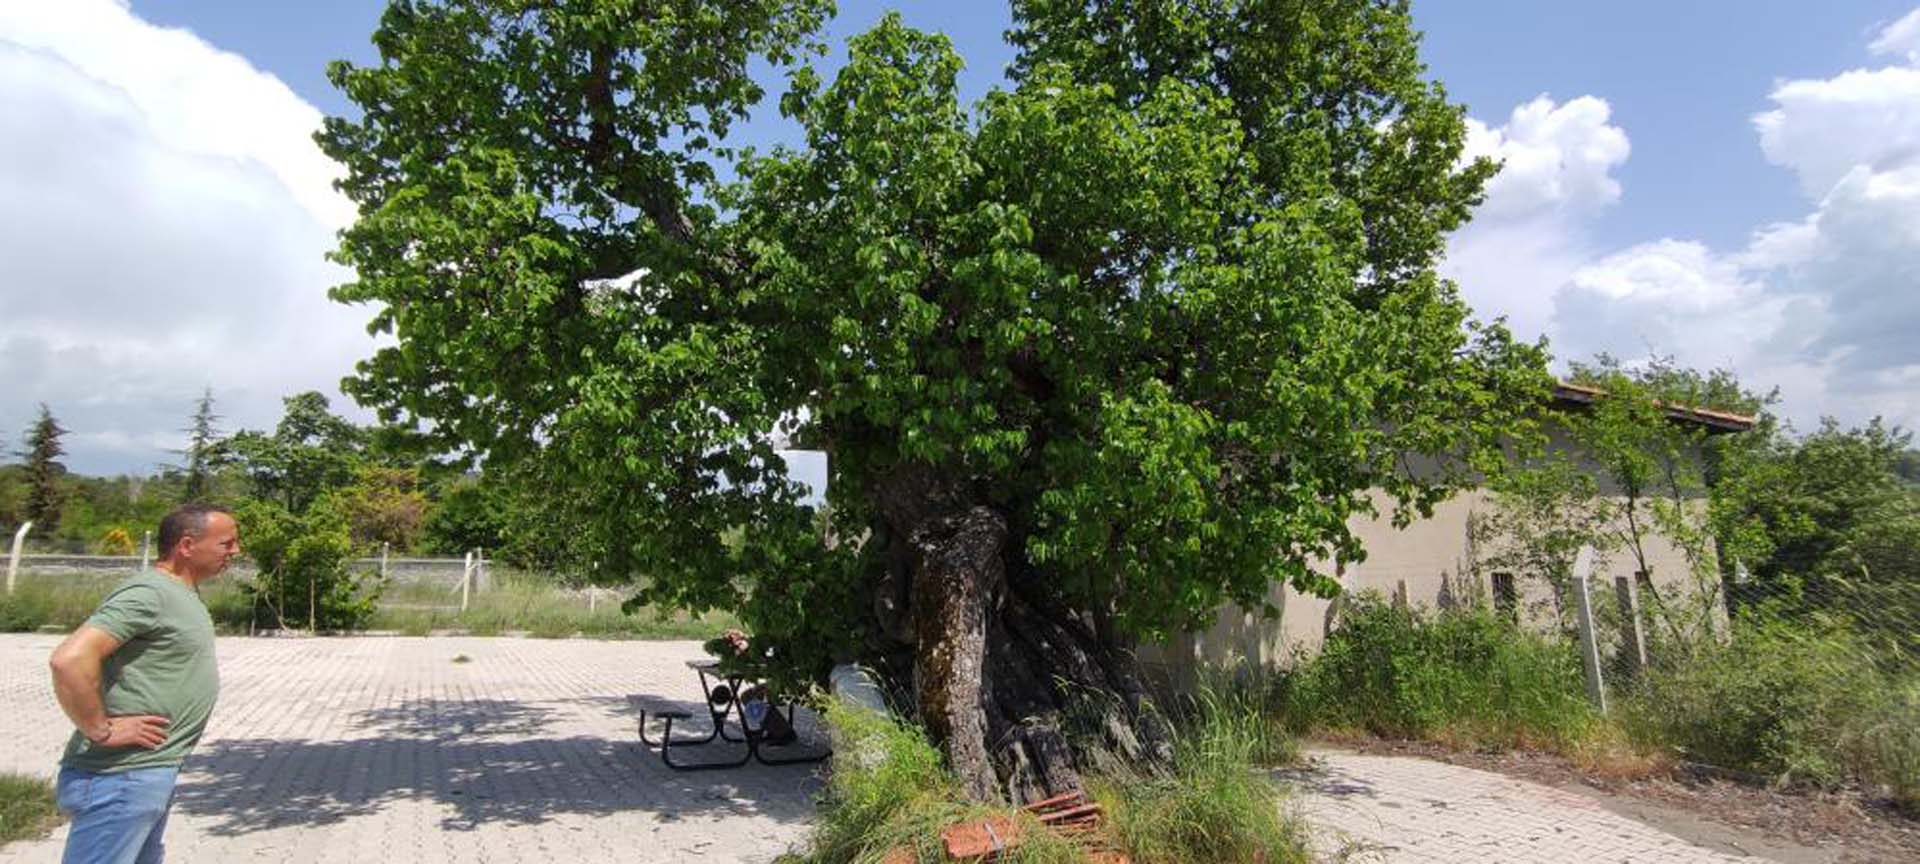
<svg viewBox="0 0 1920 864">
<path fill-rule="evenodd" d="M 144 470 L 202 388 L 267 426 L 371 353 L 324 296 L 321 111 L 273 75 L 123 2 L 4 4 L 0 115 L 0 436 L 46 401 L 77 470 Z"/>
</svg>

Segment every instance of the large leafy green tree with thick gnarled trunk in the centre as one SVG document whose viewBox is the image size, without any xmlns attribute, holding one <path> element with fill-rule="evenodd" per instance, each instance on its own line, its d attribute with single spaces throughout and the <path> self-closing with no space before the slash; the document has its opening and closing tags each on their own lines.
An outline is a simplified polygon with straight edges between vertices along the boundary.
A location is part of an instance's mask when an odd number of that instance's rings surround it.
<svg viewBox="0 0 1920 864">
<path fill-rule="evenodd" d="M 1494 165 L 1404 2 L 1016 2 L 973 106 L 899 17 L 822 77 L 828 15 L 396 2 L 321 134 L 397 338 L 349 388 L 781 674 L 887 670 L 977 797 L 1165 758 L 1133 645 L 1331 589 L 1367 490 L 1430 505 L 1538 394 L 1434 275 Z M 774 106 L 801 144 L 737 148 Z"/>
</svg>

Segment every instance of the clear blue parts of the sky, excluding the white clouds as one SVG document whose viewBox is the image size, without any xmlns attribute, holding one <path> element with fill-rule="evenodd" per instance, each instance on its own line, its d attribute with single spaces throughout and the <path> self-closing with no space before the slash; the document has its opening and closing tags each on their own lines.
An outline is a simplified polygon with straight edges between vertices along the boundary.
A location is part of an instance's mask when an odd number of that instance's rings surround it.
<svg viewBox="0 0 1920 864">
<path fill-rule="evenodd" d="M 372 61 L 367 36 L 384 8 L 369 0 L 132 0 L 134 13 L 246 56 L 328 113 L 351 106 L 326 84 L 326 61 Z M 829 44 L 843 44 L 885 10 L 954 40 L 968 60 L 968 96 L 996 84 L 1012 60 L 1000 38 L 1008 8 L 991 2 L 843 2 Z M 1632 194 L 1601 217 L 1603 240 L 1693 234 L 1736 244 L 1755 223 L 1801 209 L 1793 177 L 1768 165 L 1753 140 L 1751 117 L 1766 90 L 1776 79 L 1857 65 L 1864 36 L 1910 10 L 1905 0 L 1427 0 L 1413 13 L 1427 33 L 1432 75 L 1476 115 L 1505 113 L 1538 94 L 1594 94 L 1613 106 L 1615 123 L 1634 138 L 1634 157 L 1617 171 Z"/>
</svg>

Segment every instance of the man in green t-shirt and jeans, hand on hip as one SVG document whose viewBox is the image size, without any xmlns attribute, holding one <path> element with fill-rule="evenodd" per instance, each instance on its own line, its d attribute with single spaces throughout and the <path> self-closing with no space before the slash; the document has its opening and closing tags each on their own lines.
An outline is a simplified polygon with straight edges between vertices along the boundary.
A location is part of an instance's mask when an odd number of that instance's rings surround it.
<svg viewBox="0 0 1920 864">
<path fill-rule="evenodd" d="M 65 864 L 163 858 L 173 781 L 213 712 L 221 682 L 200 584 L 240 555 L 240 532 L 225 509 L 186 505 L 159 520 L 159 555 L 48 660 L 75 726 L 58 783 L 73 820 Z"/>
</svg>

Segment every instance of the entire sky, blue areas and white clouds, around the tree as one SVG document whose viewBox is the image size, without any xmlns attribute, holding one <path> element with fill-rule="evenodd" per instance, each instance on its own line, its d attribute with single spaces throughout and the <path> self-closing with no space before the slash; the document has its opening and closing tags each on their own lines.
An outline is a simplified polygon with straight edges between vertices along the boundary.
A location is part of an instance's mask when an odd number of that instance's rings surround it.
<svg viewBox="0 0 1920 864">
<path fill-rule="evenodd" d="M 25 273 L 0 280 L 17 311 L 0 317 L 0 365 L 23 371 L 0 378 L 0 438 L 44 399 L 75 428 L 77 468 L 140 470 L 165 461 L 202 386 L 230 426 L 263 426 L 278 396 L 330 390 L 369 349 L 365 315 L 319 300 L 340 275 L 317 255 L 346 215 L 303 136 L 351 109 L 323 67 L 371 61 L 382 8 L 0 10 L 0 113 L 23 117 L 0 129 L 0 209 L 42 213 L 0 225 L 0 261 Z M 845 2 L 829 44 L 885 8 L 954 38 L 968 96 L 1012 56 L 996 4 Z M 1782 386 L 1801 426 L 1920 422 L 1910 13 L 1914 0 L 1415 2 L 1475 152 L 1509 165 L 1444 271 L 1565 357 L 1734 367 Z M 778 117 L 747 132 L 787 134 Z M 182 282 L 211 286 L 223 311 L 179 311 Z M 175 311 L 136 315 L 156 303 Z"/>
</svg>

